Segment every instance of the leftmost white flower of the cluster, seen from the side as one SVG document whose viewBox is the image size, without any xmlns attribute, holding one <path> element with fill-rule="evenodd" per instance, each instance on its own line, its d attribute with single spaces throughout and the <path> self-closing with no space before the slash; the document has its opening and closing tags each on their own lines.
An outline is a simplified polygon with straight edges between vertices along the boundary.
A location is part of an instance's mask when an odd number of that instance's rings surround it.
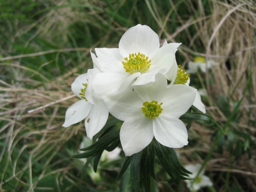
<svg viewBox="0 0 256 192">
<path fill-rule="evenodd" d="M 97 134 L 108 120 L 108 109 L 102 100 L 90 97 L 87 92 L 92 92 L 88 84 L 93 81 L 95 74 L 100 73 L 97 68 L 88 70 L 88 74 L 78 76 L 71 85 L 71 89 L 81 100 L 71 105 L 66 111 L 65 122 L 62 126 L 68 127 L 85 119 L 87 136 L 92 137 Z"/>
</svg>

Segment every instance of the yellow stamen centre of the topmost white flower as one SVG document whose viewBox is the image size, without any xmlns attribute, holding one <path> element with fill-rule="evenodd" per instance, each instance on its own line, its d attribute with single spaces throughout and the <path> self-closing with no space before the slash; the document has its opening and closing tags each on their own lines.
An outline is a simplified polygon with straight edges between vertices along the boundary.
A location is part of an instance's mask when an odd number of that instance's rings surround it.
<svg viewBox="0 0 256 192">
<path fill-rule="evenodd" d="M 124 58 L 125 61 L 122 62 L 126 72 L 133 74 L 136 72 L 145 72 L 150 67 L 151 60 L 148 61 L 148 57 L 140 52 L 138 54 L 129 54 L 129 59 Z"/>
</svg>

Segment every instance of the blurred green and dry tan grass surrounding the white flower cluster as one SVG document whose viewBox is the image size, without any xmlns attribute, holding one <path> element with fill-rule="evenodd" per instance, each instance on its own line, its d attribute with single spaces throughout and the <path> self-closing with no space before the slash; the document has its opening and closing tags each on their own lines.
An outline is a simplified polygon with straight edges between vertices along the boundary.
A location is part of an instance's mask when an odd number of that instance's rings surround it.
<svg viewBox="0 0 256 192">
<path fill-rule="evenodd" d="M 90 48 L 118 47 L 138 23 L 162 43 L 182 42 L 176 60 L 184 68 L 196 56 L 219 63 L 190 79 L 206 89 L 207 114 L 225 136 L 193 123 L 178 150 L 182 164 L 207 163 L 214 186 L 201 191 L 256 191 L 255 7 L 254 0 L 0 0 L 0 191 L 132 192 L 128 171 L 116 181 L 122 160 L 103 164 L 97 182 L 82 179 L 83 162 L 71 156 L 84 123 L 61 125 L 77 101 L 71 83 L 92 68 Z M 156 172 L 166 180 L 161 167 Z M 184 181 L 155 184 L 154 191 L 188 191 Z"/>
</svg>

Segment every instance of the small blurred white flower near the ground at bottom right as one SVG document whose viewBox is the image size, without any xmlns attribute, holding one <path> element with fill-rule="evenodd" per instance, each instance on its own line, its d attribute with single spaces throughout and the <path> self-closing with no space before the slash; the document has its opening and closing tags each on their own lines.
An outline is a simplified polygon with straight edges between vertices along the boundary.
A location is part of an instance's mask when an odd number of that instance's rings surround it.
<svg viewBox="0 0 256 192">
<path fill-rule="evenodd" d="M 186 165 L 186 170 L 190 171 L 192 175 L 190 178 L 196 178 L 197 173 L 201 168 L 201 164 L 193 164 L 193 165 Z M 212 186 L 212 182 L 209 177 L 204 175 L 204 170 L 199 174 L 198 179 L 196 180 L 184 180 L 187 184 L 187 187 L 190 191 L 194 192 L 199 190 L 201 187 Z"/>
</svg>

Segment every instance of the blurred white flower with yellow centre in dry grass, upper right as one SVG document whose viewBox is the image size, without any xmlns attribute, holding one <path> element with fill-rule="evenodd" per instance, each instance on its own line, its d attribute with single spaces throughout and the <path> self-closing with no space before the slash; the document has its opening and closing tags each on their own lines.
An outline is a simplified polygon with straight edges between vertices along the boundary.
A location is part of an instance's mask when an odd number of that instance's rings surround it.
<svg viewBox="0 0 256 192">
<path fill-rule="evenodd" d="M 207 63 L 207 65 L 206 65 L 206 63 Z M 207 66 L 208 69 L 210 69 L 210 68 L 212 68 L 213 66 L 216 66 L 216 65 L 218 65 L 217 62 L 214 62 L 212 60 L 207 60 L 206 61 L 206 59 L 204 57 L 198 56 L 198 57 L 194 58 L 194 62 L 191 62 L 191 61 L 188 62 L 187 72 L 190 73 L 190 74 L 196 73 L 198 68 L 200 68 L 200 70 L 205 73 L 206 72 L 206 66 Z"/>
</svg>

